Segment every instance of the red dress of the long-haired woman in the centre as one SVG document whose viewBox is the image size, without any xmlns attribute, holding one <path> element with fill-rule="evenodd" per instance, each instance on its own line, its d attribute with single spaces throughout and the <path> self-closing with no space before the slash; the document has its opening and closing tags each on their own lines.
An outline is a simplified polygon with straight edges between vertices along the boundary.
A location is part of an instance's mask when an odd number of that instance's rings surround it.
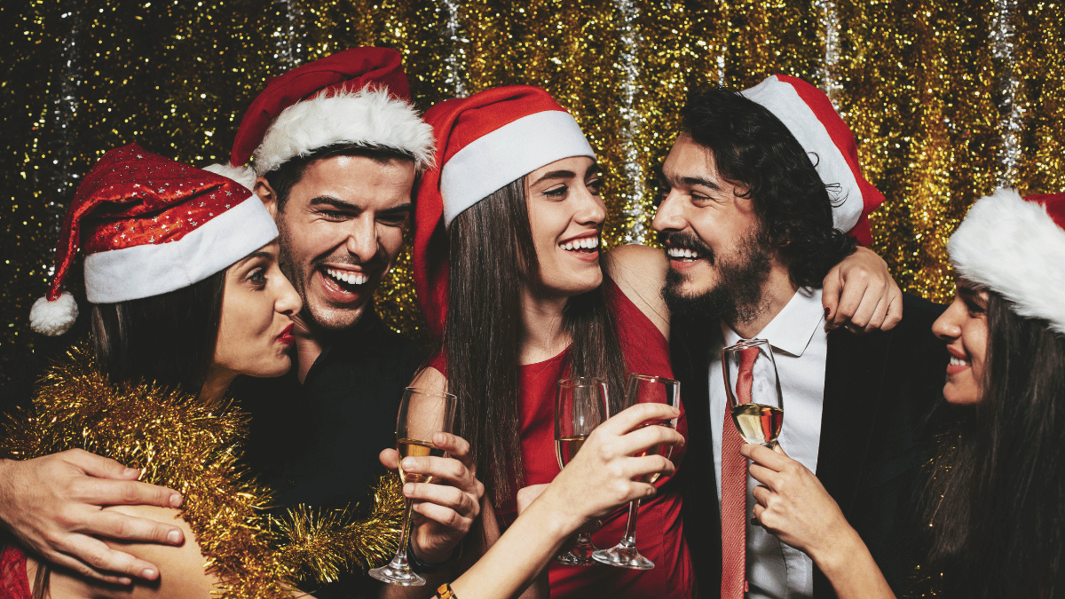
<svg viewBox="0 0 1065 599">
<path fill-rule="evenodd" d="M 607 302 L 618 322 L 622 352 L 629 372 L 672 377 L 669 342 L 661 331 L 612 281 L 607 284 Z M 519 426 L 522 438 L 522 467 L 526 485 L 550 483 L 558 474 L 555 457 L 555 387 L 566 376 L 566 351 L 532 365 L 519 367 Z M 442 355 L 430 366 L 442 373 Z M 622 392 L 610 389 L 609 392 Z M 683 389 L 682 389 L 683 395 Z M 688 436 L 684 407 L 677 419 L 677 431 Z M 673 450 L 672 460 L 679 468 L 684 448 Z M 694 577 L 688 547 L 684 543 L 681 523 L 681 489 L 673 477 L 658 481 L 658 493 L 640 504 L 636 525 L 636 547 L 655 563 L 652 570 L 629 570 L 596 564 L 566 566 L 552 562 L 550 566 L 553 599 L 572 597 L 623 597 L 625 599 L 679 599 L 693 597 Z M 511 500 L 496 505 L 499 523 L 506 527 L 517 516 Z M 625 534 L 627 506 L 604 520 L 603 528 L 592 534 L 600 549 L 609 549 Z"/>
</svg>

